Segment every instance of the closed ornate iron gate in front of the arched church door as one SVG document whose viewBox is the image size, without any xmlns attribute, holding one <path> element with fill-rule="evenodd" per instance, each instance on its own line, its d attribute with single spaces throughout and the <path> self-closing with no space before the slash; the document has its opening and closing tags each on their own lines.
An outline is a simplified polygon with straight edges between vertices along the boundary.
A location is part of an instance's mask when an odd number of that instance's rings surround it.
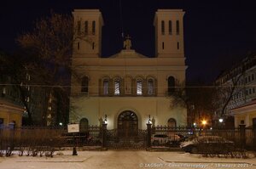
<svg viewBox="0 0 256 169">
<path fill-rule="evenodd" d="M 113 129 L 107 132 L 108 149 L 146 149 L 147 130 L 129 132 Z"/>
</svg>

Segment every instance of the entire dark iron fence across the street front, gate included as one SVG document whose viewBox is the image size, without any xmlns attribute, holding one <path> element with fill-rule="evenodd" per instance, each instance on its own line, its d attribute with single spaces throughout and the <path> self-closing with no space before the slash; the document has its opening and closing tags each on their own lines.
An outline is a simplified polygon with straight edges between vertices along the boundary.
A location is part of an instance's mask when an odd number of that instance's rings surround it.
<svg viewBox="0 0 256 169">
<path fill-rule="evenodd" d="M 146 149 L 178 147 L 189 136 L 220 136 L 233 141 L 237 148 L 256 150 L 256 129 L 151 127 L 129 132 L 127 129 L 107 130 L 107 124 L 89 126 L 81 132 L 68 133 L 65 127 L 1 127 L 0 156 L 20 150 L 20 154 L 40 154 L 42 149 L 61 147 L 100 146 L 108 149 Z M 48 152 L 51 150 L 47 150 Z"/>
</svg>

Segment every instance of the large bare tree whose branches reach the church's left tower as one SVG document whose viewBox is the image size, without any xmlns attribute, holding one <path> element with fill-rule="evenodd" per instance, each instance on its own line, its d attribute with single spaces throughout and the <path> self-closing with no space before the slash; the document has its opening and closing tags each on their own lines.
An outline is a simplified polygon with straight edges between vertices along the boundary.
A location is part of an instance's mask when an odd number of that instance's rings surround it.
<svg viewBox="0 0 256 169">
<path fill-rule="evenodd" d="M 66 86 L 71 73 L 73 42 L 78 38 L 88 41 L 83 33 L 75 31 L 78 29 L 74 29 L 71 15 L 51 12 L 49 17 L 37 20 L 31 32 L 17 38 L 20 47 L 31 51 L 36 58 L 34 62 L 25 64 L 26 71 L 33 77 L 30 85 L 45 88 L 48 93 L 46 100 L 51 94 L 68 93 L 69 87 Z"/>
</svg>

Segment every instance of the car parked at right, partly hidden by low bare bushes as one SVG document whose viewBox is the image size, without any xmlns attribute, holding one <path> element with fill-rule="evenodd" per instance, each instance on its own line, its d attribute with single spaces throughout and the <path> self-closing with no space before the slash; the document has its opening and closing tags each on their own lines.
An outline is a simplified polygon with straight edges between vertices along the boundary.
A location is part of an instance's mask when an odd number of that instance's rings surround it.
<svg viewBox="0 0 256 169">
<path fill-rule="evenodd" d="M 220 153 L 235 148 L 234 142 L 219 136 L 192 136 L 180 144 L 180 148 L 189 153 Z"/>
</svg>

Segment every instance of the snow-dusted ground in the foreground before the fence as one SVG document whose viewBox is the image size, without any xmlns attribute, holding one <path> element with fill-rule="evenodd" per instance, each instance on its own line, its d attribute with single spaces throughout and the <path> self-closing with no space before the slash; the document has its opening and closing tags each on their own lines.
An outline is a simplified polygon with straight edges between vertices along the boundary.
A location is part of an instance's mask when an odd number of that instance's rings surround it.
<svg viewBox="0 0 256 169">
<path fill-rule="evenodd" d="M 94 168 L 170 168 L 170 169 L 256 169 L 256 158 L 247 159 L 202 157 L 183 152 L 148 152 L 144 150 L 61 151 L 50 157 L 0 157 L 0 169 L 94 169 Z"/>
</svg>

